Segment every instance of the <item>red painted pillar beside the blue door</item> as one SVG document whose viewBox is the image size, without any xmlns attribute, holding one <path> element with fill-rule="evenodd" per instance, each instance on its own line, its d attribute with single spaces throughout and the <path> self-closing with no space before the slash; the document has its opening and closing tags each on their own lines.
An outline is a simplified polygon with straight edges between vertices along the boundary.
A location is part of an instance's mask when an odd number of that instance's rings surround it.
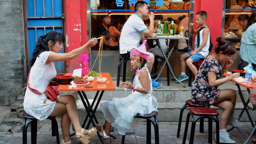
<svg viewBox="0 0 256 144">
<path fill-rule="evenodd" d="M 86 0 L 65 0 L 65 26 L 67 53 L 87 42 Z M 80 67 L 80 59 L 67 60 L 67 72 Z"/>
</svg>

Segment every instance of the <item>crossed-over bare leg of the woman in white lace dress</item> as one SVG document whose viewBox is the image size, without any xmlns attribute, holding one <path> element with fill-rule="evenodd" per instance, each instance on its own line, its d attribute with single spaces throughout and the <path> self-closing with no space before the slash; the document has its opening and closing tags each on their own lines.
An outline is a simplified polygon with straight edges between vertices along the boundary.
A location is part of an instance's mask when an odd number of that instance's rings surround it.
<svg viewBox="0 0 256 144">
<path fill-rule="evenodd" d="M 60 96 L 57 102 L 66 105 L 66 111 L 68 113 L 70 120 L 72 121 L 72 124 L 75 128 L 75 132 L 80 133 L 82 130 L 82 127 L 79 122 L 78 110 L 77 110 L 77 106 L 76 106 L 74 97 L 70 96 L 70 95 Z M 63 113 L 63 110 L 61 110 L 59 107 L 55 106 L 55 109 L 50 116 L 61 115 L 60 111 Z M 84 134 L 85 135 L 88 134 L 88 130 L 84 130 Z M 76 137 L 78 139 L 81 138 L 80 135 L 76 135 Z"/>
</svg>

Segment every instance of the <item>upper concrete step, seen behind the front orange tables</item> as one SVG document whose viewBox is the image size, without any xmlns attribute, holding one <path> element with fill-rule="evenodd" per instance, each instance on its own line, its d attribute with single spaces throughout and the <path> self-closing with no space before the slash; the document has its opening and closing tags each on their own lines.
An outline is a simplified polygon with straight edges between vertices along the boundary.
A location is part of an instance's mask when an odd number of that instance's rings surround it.
<svg viewBox="0 0 256 144">
<path fill-rule="evenodd" d="M 159 81 L 163 85 L 158 89 L 153 89 L 153 95 L 156 97 L 158 102 L 185 102 L 186 100 L 190 99 L 190 93 L 191 93 L 191 87 L 188 87 L 188 82 L 183 82 L 187 87 L 182 87 L 179 83 L 174 83 L 174 81 L 170 82 L 170 86 L 167 86 L 166 81 Z M 114 84 L 116 85 L 116 81 L 114 81 Z M 218 87 L 219 89 L 234 89 L 237 92 L 237 102 L 242 102 L 239 93 L 238 88 L 233 82 L 227 82 L 221 86 Z M 246 88 L 241 87 L 242 94 L 244 98 L 248 99 L 248 93 L 246 91 Z M 94 99 L 96 91 L 85 91 L 86 96 L 88 99 Z M 131 90 L 124 91 L 123 88 L 116 87 L 114 91 L 104 91 L 103 97 L 101 100 L 108 100 L 109 98 L 116 97 L 116 98 L 122 98 L 126 97 L 131 93 Z M 72 95 L 76 97 L 77 99 L 80 99 L 80 96 L 76 91 L 65 91 L 61 92 L 61 95 Z"/>
</svg>

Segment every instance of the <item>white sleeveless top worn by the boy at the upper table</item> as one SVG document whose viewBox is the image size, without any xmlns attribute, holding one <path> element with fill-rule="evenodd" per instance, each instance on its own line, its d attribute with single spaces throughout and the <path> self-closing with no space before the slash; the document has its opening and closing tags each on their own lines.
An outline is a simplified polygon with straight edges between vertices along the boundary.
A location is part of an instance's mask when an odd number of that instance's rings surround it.
<svg viewBox="0 0 256 144">
<path fill-rule="evenodd" d="M 205 26 L 208 30 L 209 28 Z M 205 29 L 205 28 L 204 28 Z M 203 30 L 200 31 L 200 45 L 203 43 Z M 203 57 L 207 57 L 209 54 L 209 46 L 210 46 L 210 30 L 207 38 L 207 43 L 206 45 L 199 51 L 199 54 L 201 54 Z M 197 35 L 196 35 L 196 40 L 195 40 L 195 50 L 198 48 L 197 47 Z"/>
</svg>

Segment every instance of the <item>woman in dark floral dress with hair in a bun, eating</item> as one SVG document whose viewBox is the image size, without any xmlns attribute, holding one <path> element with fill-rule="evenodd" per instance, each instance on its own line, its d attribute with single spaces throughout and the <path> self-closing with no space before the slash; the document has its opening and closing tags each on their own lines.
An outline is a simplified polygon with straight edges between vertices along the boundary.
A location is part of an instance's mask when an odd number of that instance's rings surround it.
<svg viewBox="0 0 256 144">
<path fill-rule="evenodd" d="M 221 124 L 219 130 L 220 143 L 236 143 L 229 138 L 227 125 L 233 127 L 243 127 L 234 116 L 237 94 L 233 89 L 218 89 L 222 85 L 240 73 L 233 73 L 225 78 L 221 78 L 223 73 L 233 64 L 231 57 L 236 53 L 234 45 L 225 39 L 218 37 L 218 45 L 215 47 L 215 54 L 209 55 L 199 68 L 195 84 L 191 88 L 191 100 L 206 106 L 214 105 L 223 109 L 221 113 Z M 221 62 L 225 63 L 222 68 Z"/>
</svg>

